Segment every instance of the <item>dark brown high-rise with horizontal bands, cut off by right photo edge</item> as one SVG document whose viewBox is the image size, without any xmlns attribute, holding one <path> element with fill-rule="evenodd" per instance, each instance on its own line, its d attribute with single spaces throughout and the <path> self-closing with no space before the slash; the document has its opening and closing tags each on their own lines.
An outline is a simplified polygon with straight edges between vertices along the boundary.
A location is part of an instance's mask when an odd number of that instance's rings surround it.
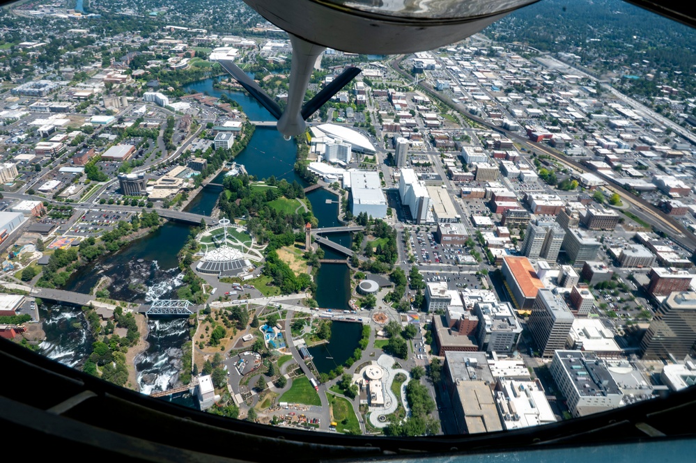
<svg viewBox="0 0 696 463">
<path fill-rule="evenodd" d="M 644 359 L 683 360 L 696 342 L 696 293 L 672 292 L 655 311 L 640 342 Z"/>
</svg>

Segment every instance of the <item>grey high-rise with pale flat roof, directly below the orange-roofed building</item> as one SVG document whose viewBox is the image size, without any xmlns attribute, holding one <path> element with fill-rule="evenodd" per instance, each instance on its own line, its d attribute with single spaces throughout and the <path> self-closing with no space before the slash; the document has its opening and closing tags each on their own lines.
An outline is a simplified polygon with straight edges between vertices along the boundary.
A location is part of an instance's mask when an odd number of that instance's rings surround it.
<svg viewBox="0 0 696 463">
<path fill-rule="evenodd" d="M 562 297 L 547 288 L 541 288 L 536 293 L 527 326 L 532 331 L 541 356 L 551 357 L 555 351 L 566 347 L 573 320 L 575 317 Z"/>
</svg>

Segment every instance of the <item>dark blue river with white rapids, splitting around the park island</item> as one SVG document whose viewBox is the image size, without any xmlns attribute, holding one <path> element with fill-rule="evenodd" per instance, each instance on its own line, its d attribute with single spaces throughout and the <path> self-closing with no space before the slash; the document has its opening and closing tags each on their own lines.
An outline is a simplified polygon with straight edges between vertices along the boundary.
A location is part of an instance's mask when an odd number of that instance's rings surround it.
<svg viewBox="0 0 696 463">
<path fill-rule="evenodd" d="M 244 93 L 212 88 L 212 83 L 213 79 L 205 79 L 184 86 L 184 91 L 207 92 L 218 97 L 226 93 L 242 106 L 250 120 L 272 120 L 270 113 L 256 100 Z M 288 182 L 296 180 L 304 186 L 307 184 L 293 171 L 296 155 L 295 144 L 285 141 L 273 127 L 257 127 L 249 144 L 235 158 L 235 162 L 244 164 L 249 175 L 256 175 L 258 178 L 274 175 Z M 213 182 L 222 183 L 224 174 L 219 173 Z M 219 193 L 219 187 L 205 187 L 192 198 L 185 210 L 210 215 Z M 341 225 L 337 220 L 338 196 L 317 189 L 307 197 L 320 226 Z M 331 203 L 327 203 L 327 200 Z M 111 278 L 109 292 L 114 299 L 138 303 L 147 303 L 155 299 L 176 299 L 176 290 L 182 284 L 176 254 L 189 234 L 190 226 L 176 222 L 165 223 L 155 232 L 134 240 L 120 251 L 82 267 L 70 278 L 64 289 L 88 294 L 102 276 L 107 276 Z M 339 244 L 350 246 L 350 233 L 338 233 L 329 237 Z M 330 249 L 325 250 L 325 257 L 344 258 Z M 316 298 L 320 307 L 348 308 L 350 274 L 347 265 L 324 264 L 316 278 Z M 87 332 L 86 325 L 84 330 L 75 328 L 77 321 L 85 323 L 81 311 L 59 306 L 59 310 L 52 309 L 46 314 L 43 322 L 45 329 L 48 328 L 47 340 L 41 346 L 42 352 L 63 363 L 78 365 L 91 352 L 93 342 L 91 338 L 86 338 L 86 335 L 78 339 L 78 331 Z M 168 384 L 176 382 L 181 348 L 188 339 L 184 320 L 150 320 L 148 329 L 147 340 L 150 347 L 136 359 L 138 384 L 144 393 L 166 388 Z M 348 356 L 352 352 L 353 350 L 350 350 Z"/>
</svg>

